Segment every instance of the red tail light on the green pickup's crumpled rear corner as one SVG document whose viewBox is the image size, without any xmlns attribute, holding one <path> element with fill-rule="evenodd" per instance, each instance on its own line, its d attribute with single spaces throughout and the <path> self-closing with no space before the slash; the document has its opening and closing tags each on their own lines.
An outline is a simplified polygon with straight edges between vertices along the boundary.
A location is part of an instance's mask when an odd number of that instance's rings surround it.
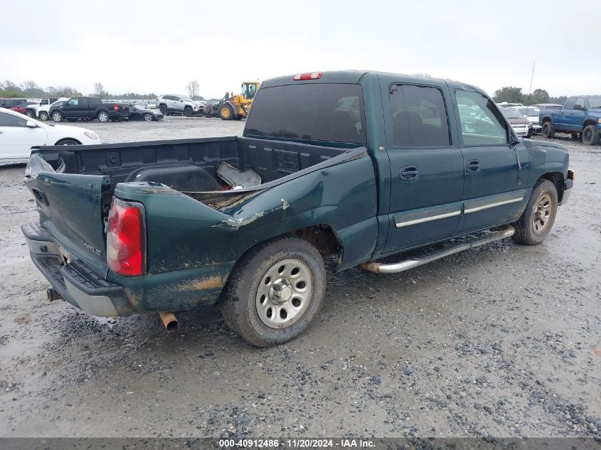
<svg viewBox="0 0 601 450">
<path fill-rule="evenodd" d="M 107 227 L 107 263 L 119 275 L 134 277 L 146 269 L 144 206 L 113 198 Z"/>
</svg>

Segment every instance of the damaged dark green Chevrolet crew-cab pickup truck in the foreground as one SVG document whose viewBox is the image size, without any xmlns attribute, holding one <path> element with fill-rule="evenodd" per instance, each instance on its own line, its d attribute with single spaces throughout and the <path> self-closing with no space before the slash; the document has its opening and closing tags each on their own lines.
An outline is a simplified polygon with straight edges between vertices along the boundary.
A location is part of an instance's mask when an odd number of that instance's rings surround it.
<svg viewBox="0 0 601 450">
<path fill-rule="evenodd" d="M 166 326 L 218 302 L 267 346 L 317 314 L 329 255 L 389 273 L 538 244 L 573 172 L 476 87 L 351 71 L 263 82 L 243 136 L 35 149 L 25 183 L 40 222 L 22 230 L 51 299 Z"/>
</svg>

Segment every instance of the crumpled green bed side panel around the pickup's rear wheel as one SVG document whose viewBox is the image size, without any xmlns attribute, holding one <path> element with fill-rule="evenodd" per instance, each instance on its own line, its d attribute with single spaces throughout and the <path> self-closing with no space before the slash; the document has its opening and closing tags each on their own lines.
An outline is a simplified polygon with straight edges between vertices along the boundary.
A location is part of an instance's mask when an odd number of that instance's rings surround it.
<svg viewBox="0 0 601 450">
<path fill-rule="evenodd" d="M 367 154 L 260 191 L 223 212 L 156 183 L 121 183 L 115 195 L 146 209 L 149 274 L 109 274 L 143 311 L 216 300 L 248 250 L 299 228 L 331 225 L 344 249 L 341 269 L 370 259 L 376 245 L 376 177 Z"/>
</svg>

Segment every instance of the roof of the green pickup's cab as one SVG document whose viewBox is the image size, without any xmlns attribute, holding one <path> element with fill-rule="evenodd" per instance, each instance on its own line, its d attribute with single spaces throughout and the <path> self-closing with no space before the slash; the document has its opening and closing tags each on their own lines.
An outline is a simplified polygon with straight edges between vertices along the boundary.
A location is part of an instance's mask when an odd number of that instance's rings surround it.
<svg viewBox="0 0 601 450">
<path fill-rule="evenodd" d="M 309 73 L 319 73 L 319 72 L 309 72 Z M 446 82 L 447 85 L 451 88 L 457 89 L 467 89 L 467 90 L 476 90 L 478 92 L 483 92 L 479 87 L 468 85 L 463 82 L 453 81 L 453 80 L 442 80 L 441 78 L 430 78 L 430 77 L 417 77 L 415 75 L 403 75 L 399 73 L 387 73 L 387 72 L 377 72 L 375 70 L 331 70 L 327 72 L 321 72 L 321 77 L 317 80 L 294 80 L 294 75 L 284 75 L 282 77 L 270 78 L 269 80 L 265 80 L 262 82 L 261 87 L 274 87 L 274 86 L 282 86 L 282 85 L 294 85 L 300 83 L 350 83 L 357 84 L 361 81 L 361 77 L 367 74 L 375 74 L 375 75 L 395 75 L 399 77 L 399 81 L 406 82 L 425 82 L 425 80 L 432 80 L 437 82 Z"/>
</svg>

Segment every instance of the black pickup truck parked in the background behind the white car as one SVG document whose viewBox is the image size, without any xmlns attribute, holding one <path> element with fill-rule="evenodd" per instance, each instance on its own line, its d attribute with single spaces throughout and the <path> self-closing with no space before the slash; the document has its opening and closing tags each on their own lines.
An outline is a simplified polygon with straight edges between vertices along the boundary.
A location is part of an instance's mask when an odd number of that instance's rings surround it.
<svg viewBox="0 0 601 450">
<path fill-rule="evenodd" d="M 54 122 L 64 119 L 73 122 L 78 119 L 98 119 L 100 122 L 122 120 L 129 117 L 129 107 L 120 103 L 103 103 L 99 97 L 72 97 L 50 107 L 48 112 Z"/>
</svg>

